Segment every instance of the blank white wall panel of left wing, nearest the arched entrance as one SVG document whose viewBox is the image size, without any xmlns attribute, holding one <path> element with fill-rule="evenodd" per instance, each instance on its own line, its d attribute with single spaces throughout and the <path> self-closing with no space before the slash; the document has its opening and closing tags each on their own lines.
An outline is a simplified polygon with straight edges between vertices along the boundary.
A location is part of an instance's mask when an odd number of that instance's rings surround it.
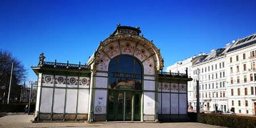
<svg viewBox="0 0 256 128">
<path fill-rule="evenodd" d="M 77 113 L 88 113 L 89 89 L 79 89 Z"/>
</svg>

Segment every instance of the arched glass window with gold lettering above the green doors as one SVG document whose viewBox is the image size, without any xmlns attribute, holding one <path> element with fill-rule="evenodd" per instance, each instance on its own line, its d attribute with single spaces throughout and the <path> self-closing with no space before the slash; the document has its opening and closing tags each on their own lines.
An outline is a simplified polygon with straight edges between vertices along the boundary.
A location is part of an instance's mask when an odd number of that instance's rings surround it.
<svg viewBox="0 0 256 128">
<path fill-rule="evenodd" d="M 141 90 L 141 64 L 130 56 L 114 57 L 109 63 L 109 89 Z"/>
</svg>

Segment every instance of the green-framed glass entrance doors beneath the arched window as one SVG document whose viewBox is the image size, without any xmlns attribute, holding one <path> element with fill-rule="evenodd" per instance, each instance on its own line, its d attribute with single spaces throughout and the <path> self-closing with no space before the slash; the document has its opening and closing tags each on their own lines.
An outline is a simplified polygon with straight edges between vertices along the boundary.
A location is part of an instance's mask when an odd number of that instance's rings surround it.
<svg viewBox="0 0 256 128">
<path fill-rule="evenodd" d="M 109 91 L 108 121 L 141 120 L 141 93 Z"/>
</svg>

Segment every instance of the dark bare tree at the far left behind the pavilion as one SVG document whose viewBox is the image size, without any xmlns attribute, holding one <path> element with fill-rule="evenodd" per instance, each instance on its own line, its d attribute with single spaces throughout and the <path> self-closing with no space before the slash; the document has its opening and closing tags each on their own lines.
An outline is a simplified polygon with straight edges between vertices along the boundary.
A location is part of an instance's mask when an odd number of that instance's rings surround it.
<svg viewBox="0 0 256 128">
<path fill-rule="evenodd" d="M 11 77 L 11 65 L 14 63 L 13 70 L 13 86 L 11 98 L 20 96 L 20 87 L 22 82 L 26 80 L 27 69 L 12 53 L 7 50 L 0 49 L 0 101 L 6 101 Z"/>
</svg>

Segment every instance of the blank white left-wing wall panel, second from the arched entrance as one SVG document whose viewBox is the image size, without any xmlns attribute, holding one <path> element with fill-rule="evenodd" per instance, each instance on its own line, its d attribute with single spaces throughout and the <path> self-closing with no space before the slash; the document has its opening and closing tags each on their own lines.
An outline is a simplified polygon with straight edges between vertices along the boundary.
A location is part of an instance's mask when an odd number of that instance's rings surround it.
<svg viewBox="0 0 256 128">
<path fill-rule="evenodd" d="M 77 89 L 67 89 L 65 113 L 76 113 Z"/>
</svg>

